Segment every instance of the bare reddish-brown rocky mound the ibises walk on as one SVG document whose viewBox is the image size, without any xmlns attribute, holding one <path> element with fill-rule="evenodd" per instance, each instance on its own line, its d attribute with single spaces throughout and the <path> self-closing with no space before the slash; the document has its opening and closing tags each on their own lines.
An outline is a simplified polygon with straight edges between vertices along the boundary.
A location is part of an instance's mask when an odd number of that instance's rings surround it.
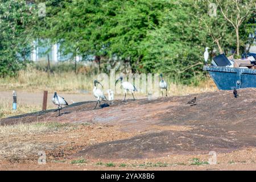
<svg viewBox="0 0 256 182">
<path fill-rule="evenodd" d="M 136 133 L 135 137 L 92 144 L 73 156 L 104 159 L 142 159 L 168 154 L 208 154 L 256 146 L 256 89 L 163 97 L 155 100 L 114 101 L 92 110 L 96 102 L 1 119 L 0 125 L 19 122 L 91 122 Z M 197 97 L 196 105 L 187 105 Z"/>
</svg>

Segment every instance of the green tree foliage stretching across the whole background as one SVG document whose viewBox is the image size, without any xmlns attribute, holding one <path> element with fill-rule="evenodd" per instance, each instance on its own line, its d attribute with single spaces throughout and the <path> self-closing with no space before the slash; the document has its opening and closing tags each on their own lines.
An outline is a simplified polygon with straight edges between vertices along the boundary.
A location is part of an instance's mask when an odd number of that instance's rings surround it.
<svg viewBox="0 0 256 182">
<path fill-rule="evenodd" d="M 37 16 L 39 2 L 44 1 L 33 1 L 30 9 L 24 1 L 1 3 L 0 11 L 7 14 L 11 6 L 12 13 L 8 18 L 0 16 L 0 38 L 10 39 L 0 43 L 0 75 L 14 75 L 20 68 L 19 59 L 14 57 L 16 52 L 23 53 L 23 57 L 29 53 L 27 42 L 31 39 L 27 35 L 40 44 L 59 43 L 64 55 L 81 55 L 84 60 L 97 56 L 98 69 L 92 69 L 93 73 L 109 73 L 111 68 L 125 73 L 163 72 L 183 84 L 196 84 L 204 76 L 205 47 L 212 48 L 210 57 L 220 52 L 229 55 L 237 48 L 236 32 L 222 15 L 220 6 L 216 17 L 208 15 L 210 1 L 49 0 L 45 2 L 43 18 Z M 237 14 L 233 2 L 230 7 L 226 6 L 228 0 L 212 2 L 228 9 L 229 15 Z M 238 6 L 245 5 L 239 1 Z M 20 26 L 23 21 L 26 26 Z M 12 30 L 10 26 L 15 31 L 3 34 Z M 256 38 L 255 9 L 243 19 L 239 36 L 241 52 L 245 52 L 246 45 L 253 45 Z"/>
</svg>

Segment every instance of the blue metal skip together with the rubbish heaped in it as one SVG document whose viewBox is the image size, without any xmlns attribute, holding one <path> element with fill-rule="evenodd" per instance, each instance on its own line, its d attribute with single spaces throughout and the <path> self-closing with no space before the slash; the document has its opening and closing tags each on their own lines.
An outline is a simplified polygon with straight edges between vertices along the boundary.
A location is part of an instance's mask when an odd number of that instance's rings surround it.
<svg viewBox="0 0 256 182">
<path fill-rule="evenodd" d="M 247 55 L 234 59 L 222 53 L 213 58 L 211 66 L 204 65 L 204 70 L 209 72 L 218 89 L 256 88 L 256 53 Z"/>
</svg>

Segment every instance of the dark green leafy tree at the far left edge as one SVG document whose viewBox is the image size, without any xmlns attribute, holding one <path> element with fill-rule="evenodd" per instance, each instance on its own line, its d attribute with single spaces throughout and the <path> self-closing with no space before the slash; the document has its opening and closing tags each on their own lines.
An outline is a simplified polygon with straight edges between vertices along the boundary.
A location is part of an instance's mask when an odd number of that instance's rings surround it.
<svg viewBox="0 0 256 182">
<path fill-rule="evenodd" d="M 0 77 L 15 76 L 26 66 L 31 51 L 30 31 L 33 9 L 26 1 L 1 0 L 0 3 Z"/>
</svg>

